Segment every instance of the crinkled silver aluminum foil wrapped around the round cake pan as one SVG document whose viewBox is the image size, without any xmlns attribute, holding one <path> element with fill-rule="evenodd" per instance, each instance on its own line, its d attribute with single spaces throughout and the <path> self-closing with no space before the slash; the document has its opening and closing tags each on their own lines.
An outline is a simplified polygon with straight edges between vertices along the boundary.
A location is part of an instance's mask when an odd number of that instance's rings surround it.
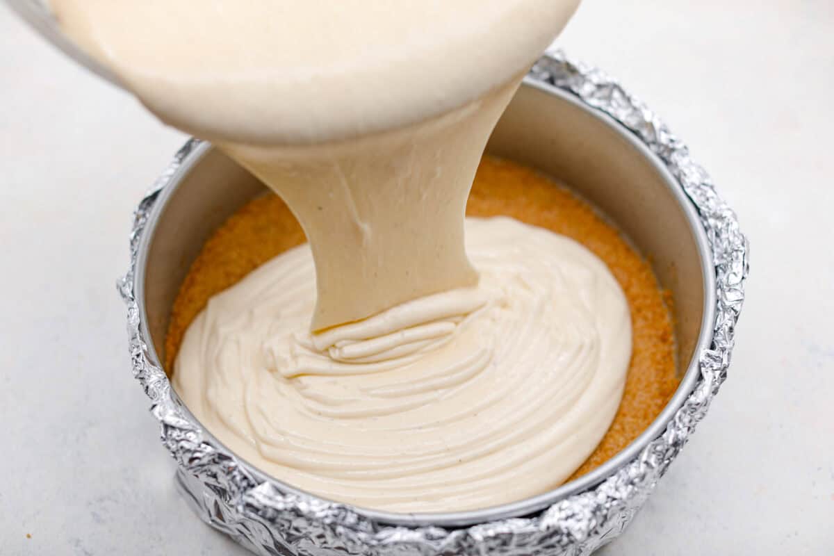
<svg viewBox="0 0 834 556">
<path fill-rule="evenodd" d="M 139 238 L 158 193 L 198 143 L 190 141 L 139 204 L 131 235 L 131 267 L 119 289 L 128 305 L 133 373 L 151 398 L 162 440 L 178 463 L 178 479 L 201 518 L 259 554 L 588 554 L 619 535 L 666 473 L 726 378 L 736 320 L 744 300 L 748 245 L 736 215 L 706 172 L 645 104 L 596 68 L 550 53 L 528 77 L 563 89 L 608 113 L 661 158 L 701 217 L 716 275 L 716 320 L 710 348 L 700 354 L 701 377 L 666 431 L 603 483 L 533 516 L 468 528 L 403 527 L 379 523 L 349 506 L 282 492 L 260 481 L 233 453 L 214 445 L 173 400 L 162 368 L 148 355 L 133 294 Z"/>
</svg>

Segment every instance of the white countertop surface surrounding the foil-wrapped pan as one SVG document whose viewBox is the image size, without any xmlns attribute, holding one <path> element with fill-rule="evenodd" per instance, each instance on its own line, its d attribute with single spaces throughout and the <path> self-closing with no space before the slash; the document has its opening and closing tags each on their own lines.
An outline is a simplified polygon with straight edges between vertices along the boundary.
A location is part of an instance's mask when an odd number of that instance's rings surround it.
<svg viewBox="0 0 834 556">
<path fill-rule="evenodd" d="M 587 0 L 560 44 L 664 116 L 752 245 L 729 378 L 603 552 L 834 552 L 834 3 Z M 0 7 L 0 553 L 244 553 L 173 489 L 114 286 L 180 143 Z"/>
</svg>

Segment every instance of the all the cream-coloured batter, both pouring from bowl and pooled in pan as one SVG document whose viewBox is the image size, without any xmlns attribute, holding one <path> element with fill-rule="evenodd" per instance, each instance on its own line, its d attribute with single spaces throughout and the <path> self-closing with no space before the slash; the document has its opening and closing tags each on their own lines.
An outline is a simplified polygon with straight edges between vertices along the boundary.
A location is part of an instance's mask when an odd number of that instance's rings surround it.
<svg viewBox="0 0 834 556">
<path fill-rule="evenodd" d="M 214 298 L 178 355 L 178 392 L 237 453 L 329 498 L 443 511 L 540 493 L 593 450 L 631 354 L 620 288 L 565 238 L 464 221 L 491 129 L 577 3 L 53 0 L 309 239 Z"/>
</svg>

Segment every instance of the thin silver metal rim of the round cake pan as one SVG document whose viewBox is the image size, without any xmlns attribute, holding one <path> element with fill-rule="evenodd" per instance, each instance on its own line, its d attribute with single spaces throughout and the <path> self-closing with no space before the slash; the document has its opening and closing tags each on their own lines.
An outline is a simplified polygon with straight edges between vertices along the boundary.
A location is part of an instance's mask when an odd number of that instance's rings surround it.
<svg viewBox="0 0 834 556">
<path fill-rule="evenodd" d="M 670 401 L 666 403 L 666 406 L 663 408 L 661 413 L 655 418 L 654 421 L 652 421 L 649 427 L 641 433 L 640 436 L 635 438 L 613 458 L 610 458 L 608 461 L 600 465 L 600 467 L 595 468 L 593 471 L 590 471 L 590 473 L 586 473 L 580 478 L 564 483 L 546 493 L 541 493 L 534 497 L 525 498 L 511 503 L 504 503 L 490 508 L 443 513 L 395 513 L 371 508 L 361 508 L 349 504 L 339 503 L 338 501 L 329 500 L 328 498 L 307 493 L 299 488 L 294 488 L 278 478 L 274 478 L 267 473 L 260 471 L 244 458 L 240 458 L 237 454 L 234 454 L 234 457 L 237 458 L 239 462 L 244 463 L 249 472 L 252 473 L 253 477 L 260 483 L 269 481 L 279 488 L 280 491 L 285 493 L 294 493 L 314 499 L 324 500 L 329 503 L 346 505 L 349 508 L 352 508 L 356 513 L 373 519 L 376 522 L 390 525 L 455 528 L 506 518 L 520 518 L 548 508 L 554 503 L 558 503 L 560 500 L 568 498 L 573 494 L 582 493 L 590 488 L 594 488 L 599 483 L 602 483 L 606 478 L 613 475 L 626 463 L 629 463 L 632 459 L 636 458 L 636 456 L 641 453 L 641 450 L 645 448 L 648 443 L 650 443 L 653 439 L 658 438 L 663 433 L 666 429 L 666 425 L 671 421 L 671 418 L 673 418 L 676 411 L 681 408 L 686 398 L 695 388 L 697 380 L 700 376 L 699 356 L 704 350 L 710 347 L 712 339 L 712 324 L 716 318 L 716 275 L 712 264 L 712 251 L 709 243 L 707 242 L 706 232 L 701 225 L 701 220 L 694 204 L 684 192 L 681 184 L 672 176 L 671 172 L 668 168 L 666 168 L 666 165 L 661 161 L 661 159 L 658 158 L 655 153 L 652 153 L 639 138 L 637 138 L 633 133 L 631 133 L 631 131 L 626 129 L 614 118 L 611 118 L 608 114 L 603 113 L 596 108 L 592 108 L 587 104 L 582 103 L 571 93 L 567 93 L 553 85 L 541 83 L 535 78 L 526 77 L 523 86 L 538 89 L 542 92 L 550 94 L 551 96 L 560 98 L 563 102 L 571 103 L 575 106 L 575 108 L 579 108 L 586 113 L 590 113 L 590 115 L 620 133 L 622 138 L 625 138 L 626 141 L 631 143 L 631 146 L 636 148 L 638 153 L 651 162 L 657 173 L 664 178 L 666 185 L 675 196 L 677 203 L 681 206 L 685 213 L 686 220 L 689 223 L 690 231 L 693 233 L 696 240 L 696 247 L 701 258 L 704 306 L 698 340 L 692 352 L 691 360 L 686 365 L 686 373 L 684 373 L 683 378 L 681 378 L 681 383 L 678 385 L 675 394 L 672 396 Z M 163 188 L 163 190 L 159 193 L 159 196 L 151 210 L 150 216 L 148 217 L 148 223 L 146 224 L 146 228 L 138 245 L 136 273 L 134 276 L 134 294 L 138 304 L 139 318 L 142 323 L 148 322 L 144 298 L 145 272 L 147 270 L 148 253 L 150 246 L 153 243 L 153 237 L 156 233 L 158 220 L 163 214 L 164 208 L 172 197 L 173 192 L 178 187 L 178 184 L 182 183 L 182 178 L 186 176 L 194 168 L 194 166 L 196 166 L 196 164 L 206 155 L 206 153 L 208 153 L 211 148 L 212 145 L 210 143 L 201 143 L 197 146 L 197 148 L 194 148 L 191 153 L 188 153 L 188 155 L 183 158 L 182 163 L 179 164 L 178 168 L 168 178 L 168 186 Z M 149 358 L 154 364 L 158 365 L 159 368 L 162 368 L 162 363 L 160 362 L 158 353 L 156 353 L 156 349 L 154 348 L 153 340 L 149 337 L 148 328 L 145 326 L 141 327 L 140 333 L 142 335 L 143 342 L 147 346 Z M 170 388 L 169 392 L 174 403 L 181 408 L 183 413 L 188 415 L 194 423 L 199 423 L 204 437 L 209 442 L 214 443 L 216 446 L 223 447 L 228 453 L 234 453 L 229 450 L 224 443 L 220 442 L 214 434 L 209 433 L 208 430 L 203 427 L 202 423 L 200 423 L 193 413 L 191 413 L 191 411 L 185 406 L 182 399 L 179 398 L 173 388 Z"/>
</svg>

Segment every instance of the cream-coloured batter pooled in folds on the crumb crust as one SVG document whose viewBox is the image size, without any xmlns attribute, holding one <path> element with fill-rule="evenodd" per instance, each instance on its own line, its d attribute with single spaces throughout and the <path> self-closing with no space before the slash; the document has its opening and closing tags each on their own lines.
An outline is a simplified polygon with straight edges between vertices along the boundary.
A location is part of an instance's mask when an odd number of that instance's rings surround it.
<svg viewBox="0 0 834 556">
<path fill-rule="evenodd" d="M 579 243 L 467 218 L 475 288 L 305 331 L 309 246 L 211 298 L 173 376 L 208 430 L 325 498 L 426 512 L 552 488 L 599 443 L 631 356 L 628 305 Z"/>
</svg>

